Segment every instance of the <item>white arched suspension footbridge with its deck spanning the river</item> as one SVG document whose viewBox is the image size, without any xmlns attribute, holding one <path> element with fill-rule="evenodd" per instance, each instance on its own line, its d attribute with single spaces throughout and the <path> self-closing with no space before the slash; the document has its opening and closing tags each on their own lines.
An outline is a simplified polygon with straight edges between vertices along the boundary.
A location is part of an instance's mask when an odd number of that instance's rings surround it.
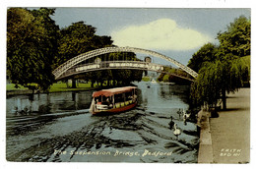
<svg viewBox="0 0 256 169">
<path fill-rule="evenodd" d="M 164 67 L 166 66 L 156 64 L 156 63 L 143 62 L 143 61 L 103 61 L 103 62 L 92 62 L 92 63 L 82 64 L 91 58 L 95 58 L 96 56 L 107 54 L 107 53 L 114 53 L 114 52 L 134 52 L 134 53 L 151 55 L 153 57 L 158 57 L 160 59 L 163 59 L 168 63 L 174 64 L 175 66 L 182 69 L 193 78 L 196 78 L 198 76 L 198 74 L 195 71 L 193 71 L 189 67 L 179 63 L 178 61 L 170 57 L 167 57 L 163 54 L 160 54 L 152 50 L 135 48 L 135 47 L 105 47 L 105 48 L 92 50 L 68 60 L 67 62 L 60 65 L 58 68 L 56 68 L 52 73 L 56 81 L 59 81 L 64 78 L 72 77 L 78 74 L 83 74 L 83 73 L 98 71 L 98 70 L 107 70 L 107 69 L 136 69 L 136 70 L 154 71 L 154 72 L 169 74 L 168 72 L 164 71 Z M 186 79 L 189 81 L 193 81 L 193 79 L 188 77 L 183 77 L 175 74 L 171 74 L 171 75 L 182 78 L 182 79 Z"/>
</svg>

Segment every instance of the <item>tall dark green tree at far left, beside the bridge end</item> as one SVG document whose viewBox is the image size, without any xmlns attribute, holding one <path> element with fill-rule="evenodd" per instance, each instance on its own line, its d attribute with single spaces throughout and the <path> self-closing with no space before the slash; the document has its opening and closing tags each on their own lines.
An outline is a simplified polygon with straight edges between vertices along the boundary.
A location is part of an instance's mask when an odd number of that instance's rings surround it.
<svg viewBox="0 0 256 169">
<path fill-rule="evenodd" d="M 54 9 L 7 11 L 7 78 L 13 84 L 47 89 L 53 82 L 51 65 L 57 51 Z"/>
</svg>

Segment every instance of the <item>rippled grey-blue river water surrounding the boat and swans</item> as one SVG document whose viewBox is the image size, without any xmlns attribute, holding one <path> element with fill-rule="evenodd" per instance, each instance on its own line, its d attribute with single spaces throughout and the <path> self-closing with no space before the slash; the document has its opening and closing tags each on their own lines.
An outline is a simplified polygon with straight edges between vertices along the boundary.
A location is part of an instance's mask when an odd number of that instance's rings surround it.
<svg viewBox="0 0 256 169">
<path fill-rule="evenodd" d="M 93 91 L 7 97 L 7 160 L 196 163 L 196 124 L 177 113 L 189 109 L 189 86 L 136 85 L 138 106 L 105 116 L 89 113 Z"/>
</svg>

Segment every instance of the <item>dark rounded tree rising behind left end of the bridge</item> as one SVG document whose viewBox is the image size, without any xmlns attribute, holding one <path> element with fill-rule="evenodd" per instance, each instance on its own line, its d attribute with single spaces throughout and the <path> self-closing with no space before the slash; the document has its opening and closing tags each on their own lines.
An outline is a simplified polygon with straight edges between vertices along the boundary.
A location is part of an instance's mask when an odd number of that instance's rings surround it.
<svg viewBox="0 0 256 169">
<path fill-rule="evenodd" d="M 95 33 L 96 28 L 86 25 L 84 22 L 73 23 L 72 26 L 61 29 L 59 58 L 56 61 L 55 68 L 82 53 L 112 44 L 111 37 L 98 36 Z M 102 77 L 101 72 L 87 75 L 92 78 L 92 85 Z M 75 81 L 74 78 L 73 81 Z M 75 83 L 73 83 L 72 87 L 76 87 Z"/>
</svg>

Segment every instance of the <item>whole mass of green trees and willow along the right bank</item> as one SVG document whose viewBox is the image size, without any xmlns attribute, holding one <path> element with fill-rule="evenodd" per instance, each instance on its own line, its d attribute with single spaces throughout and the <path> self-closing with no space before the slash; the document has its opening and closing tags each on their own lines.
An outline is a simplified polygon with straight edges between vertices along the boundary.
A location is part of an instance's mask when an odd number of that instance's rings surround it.
<svg viewBox="0 0 256 169">
<path fill-rule="evenodd" d="M 226 109 L 225 94 L 237 91 L 250 79 L 250 21 L 235 19 L 226 31 L 218 33 L 218 39 L 215 59 L 201 63 L 199 76 L 191 86 L 191 98 L 208 106 L 216 106 L 222 98 Z"/>
</svg>

